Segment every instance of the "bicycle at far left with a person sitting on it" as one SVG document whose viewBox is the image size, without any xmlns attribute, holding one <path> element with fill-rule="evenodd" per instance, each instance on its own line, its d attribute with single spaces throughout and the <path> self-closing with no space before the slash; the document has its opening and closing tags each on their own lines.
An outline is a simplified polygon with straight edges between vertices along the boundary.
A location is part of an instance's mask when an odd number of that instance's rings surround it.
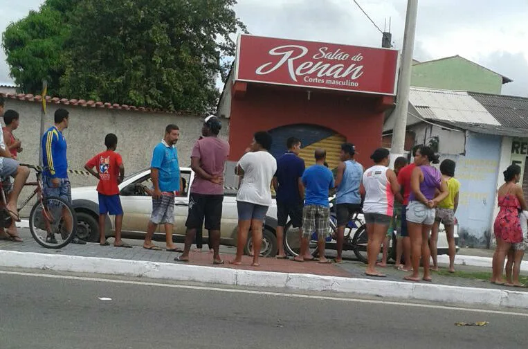
<svg viewBox="0 0 528 349">
<path fill-rule="evenodd" d="M 21 210 L 37 196 L 37 202 L 33 206 L 29 215 L 29 229 L 33 239 L 43 247 L 48 249 L 60 249 L 73 240 L 74 232 L 77 231 L 77 220 L 75 219 L 75 211 L 70 204 L 64 202 L 60 197 L 44 197 L 42 192 L 42 172 L 44 168 L 35 165 L 20 164 L 27 168 L 35 170 L 36 181 L 26 182 L 24 186 L 35 186 L 33 193 L 22 202 Z M 3 204 L 2 220 L 3 226 L 7 228 L 12 223 L 12 218 L 6 210 L 6 193 L 3 186 L 0 184 L 1 204 Z M 7 217 L 6 217 L 7 215 Z M 56 236 L 58 235 L 59 240 Z"/>
</svg>

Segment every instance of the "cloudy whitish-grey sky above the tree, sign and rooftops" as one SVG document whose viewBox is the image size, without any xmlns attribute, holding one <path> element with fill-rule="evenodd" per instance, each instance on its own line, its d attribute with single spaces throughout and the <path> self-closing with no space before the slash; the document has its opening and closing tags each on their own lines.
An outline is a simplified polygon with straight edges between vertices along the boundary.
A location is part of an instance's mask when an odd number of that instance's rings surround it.
<svg viewBox="0 0 528 349">
<path fill-rule="evenodd" d="M 42 0 L 0 0 L 0 30 L 37 10 Z M 235 10 L 255 35 L 380 46 L 381 33 L 353 0 L 239 0 Z M 406 0 L 358 0 L 401 48 Z M 507 5 L 505 5 L 507 3 Z M 502 93 L 528 96 L 528 0 L 419 0 L 415 59 L 461 55 L 513 82 Z M 0 52 L 0 83 L 11 82 Z"/>
</svg>

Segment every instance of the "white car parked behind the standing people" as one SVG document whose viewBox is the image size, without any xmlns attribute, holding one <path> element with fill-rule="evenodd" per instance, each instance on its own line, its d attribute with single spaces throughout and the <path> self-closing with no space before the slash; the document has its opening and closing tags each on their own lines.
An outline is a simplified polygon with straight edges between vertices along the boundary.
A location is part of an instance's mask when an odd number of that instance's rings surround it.
<svg viewBox="0 0 528 349">
<path fill-rule="evenodd" d="M 180 168 L 183 179 L 183 190 L 181 195 L 176 197 L 174 208 L 174 240 L 183 242 L 185 238 L 185 220 L 188 215 L 190 184 L 194 179 L 194 172 L 190 168 Z M 142 189 L 143 186 L 152 187 L 150 179 L 150 169 L 131 174 L 119 185 L 121 204 L 123 208 L 122 237 L 123 238 L 145 238 L 145 231 L 152 213 L 152 199 Z M 99 240 L 98 228 L 98 194 L 95 186 L 72 188 L 72 205 L 78 219 L 78 237 L 89 241 Z M 226 188 L 224 195 L 224 206 L 221 220 L 221 244 L 235 246 L 237 243 L 237 202 L 236 188 Z M 268 209 L 266 220 L 264 221 L 263 242 L 261 253 L 264 256 L 275 256 L 277 253 L 277 239 L 275 229 L 277 227 L 277 206 L 275 199 Z M 107 217 L 106 234 L 112 236 L 114 233 L 113 217 Z M 203 237 L 207 238 L 207 231 L 203 231 Z M 251 234 L 250 234 L 251 235 Z M 457 227 L 455 227 L 455 236 Z M 163 226 L 158 226 L 154 233 L 154 240 L 165 241 Z M 334 242 L 329 242 L 328 247 L 334 248 Z M 246 243 L 246 253 L 251 247 L 251 238 Z M 441 226 L 438 239 L 438 253 L 447 253 L 448 244 L 446 235 Z"/>
</svg>

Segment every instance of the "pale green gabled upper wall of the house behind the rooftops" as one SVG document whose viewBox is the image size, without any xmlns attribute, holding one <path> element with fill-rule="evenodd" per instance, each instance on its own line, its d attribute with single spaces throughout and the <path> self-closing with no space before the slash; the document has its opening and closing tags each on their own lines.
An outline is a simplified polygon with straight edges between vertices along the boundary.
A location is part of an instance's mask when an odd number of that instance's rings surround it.
<svg viewBox="0 0 528 349">
<path fill-rule="evenodd" d="M 500 94 L 502 77 L 462 57 L 451 57 L 413 65 L 411 85 Z"/>
</svg>

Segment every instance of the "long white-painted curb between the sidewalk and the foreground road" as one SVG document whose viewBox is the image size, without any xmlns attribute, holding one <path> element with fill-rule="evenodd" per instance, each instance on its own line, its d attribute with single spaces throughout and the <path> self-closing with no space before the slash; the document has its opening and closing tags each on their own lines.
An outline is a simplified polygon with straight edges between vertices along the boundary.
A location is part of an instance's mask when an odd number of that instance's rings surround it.
<svg viewBox="0 0 528 349">
<path fill-rule="evenodd" d="M 0 251 L 0 267 L 110 274 L 243 287 L 274 287 L 315 292 L 340 292 L 381 298 L 412 299 L 458 305 L 528 309 L 528 292 L 425 283 L 404 283 L 312 274 L 288 274 L 174 263 L 118 260 L 44 253 Z"/>
</svg>

